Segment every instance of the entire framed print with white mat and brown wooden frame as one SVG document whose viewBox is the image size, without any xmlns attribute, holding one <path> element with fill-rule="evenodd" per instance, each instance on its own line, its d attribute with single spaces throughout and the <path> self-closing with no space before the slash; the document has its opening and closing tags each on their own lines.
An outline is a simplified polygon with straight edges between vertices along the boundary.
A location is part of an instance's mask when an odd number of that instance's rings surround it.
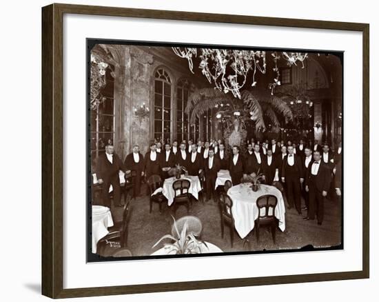
<svg viewBox="0 0 379 302">
<path fill-rule="evenodd" d="M 368 24 L 42 12 L 43 294 L 369 277 Z"/>
</svg>

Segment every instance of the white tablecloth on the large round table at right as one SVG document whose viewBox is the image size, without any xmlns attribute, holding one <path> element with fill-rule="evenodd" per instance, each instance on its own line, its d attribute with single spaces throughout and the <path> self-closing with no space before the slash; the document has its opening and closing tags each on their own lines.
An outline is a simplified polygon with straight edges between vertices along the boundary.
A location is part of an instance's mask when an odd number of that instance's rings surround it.
<svg viewBox="0 0 379 302">
<path fill-rule="evenodd" d="M 275 195 L 278 204 L 275 208 L 275 217 L 279 221 L 280 230 L 285 230 L 285 203 L 282 193 L 272 185 L 260 185 L 260 189 L 254 192 L 250 183 L 240 183 L 229 189 L 227 194 L 233 201 L 232 214 L 234 225 L 240 238 L 245 238 L 254 228 L 254 221 L 258 218 L 256 200 L 266 194 Z M 262 209 L 265 211 L 265 209 Z M 265 214 L 264 212 L 262 214 Z M 269 213 L 271 214 L 271 213 Z"/>
</svg>

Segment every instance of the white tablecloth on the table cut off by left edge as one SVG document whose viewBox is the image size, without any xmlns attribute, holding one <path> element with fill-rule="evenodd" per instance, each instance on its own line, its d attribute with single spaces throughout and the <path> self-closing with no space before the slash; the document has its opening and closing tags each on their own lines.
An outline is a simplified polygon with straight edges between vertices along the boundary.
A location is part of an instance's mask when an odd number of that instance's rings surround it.
<svg viewBox="0 0 379 302">
<path fill-rule="evenodd" d="M 113 226 L 110 209 L 102 205 L 92 205 L 92 252 L 96 253 L 96 245 L 103 236 L 109 233 L 107 228 Z"/>
</svg>

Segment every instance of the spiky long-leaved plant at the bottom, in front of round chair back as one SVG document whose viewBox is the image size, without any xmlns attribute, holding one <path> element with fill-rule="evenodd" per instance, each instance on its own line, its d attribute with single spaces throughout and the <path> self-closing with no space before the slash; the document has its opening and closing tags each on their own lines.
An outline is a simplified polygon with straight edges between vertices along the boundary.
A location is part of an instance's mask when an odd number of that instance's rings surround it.
<svg viewBox="0 0 379 302">
<path fill-rule="evenodd" d="M 174 230 L 176 232 L 176 236 L 172 236 L 172 234 L 165 234 L 159 239 L 152 248 L 155 248 L 156 245 L 161 243 L 161 241 L 165 239 L 170 239 L 170 243 L 163 243 L 165 249 L 167 249 L 167 253 L 175 252 L 176 254 L 201 254 L 201 245 L 205 245 L 207 247 L 207 243 L 204 241 L 196 239 L 196 236 L 193 232 L 188 232 L 188 223 L 185 221 L 183 224 L 183 229 L 181 232 L 178 230 L 178 226 L 176 225 L 176 220 L 174 220 Z"/>
</svg>

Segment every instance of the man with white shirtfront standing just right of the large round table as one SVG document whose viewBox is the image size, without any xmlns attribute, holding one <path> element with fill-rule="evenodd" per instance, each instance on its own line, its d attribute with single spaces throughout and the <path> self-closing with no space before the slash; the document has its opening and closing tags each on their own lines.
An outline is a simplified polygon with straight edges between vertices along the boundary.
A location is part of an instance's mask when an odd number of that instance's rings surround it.
<svg viewBox="0 0 379 302">
<path fill-rule="evenodd" d="M 300 185 L 304 181 L 303 164 L 300 157 L 294 154 L 293 145 L 289 145 L 287 150 L 288 155 L 282 167 L 282 182 L 287 187 L 288 208 L 291 209 L 295 205 L 298 214 L 301 214 Z"/>
</svg>

